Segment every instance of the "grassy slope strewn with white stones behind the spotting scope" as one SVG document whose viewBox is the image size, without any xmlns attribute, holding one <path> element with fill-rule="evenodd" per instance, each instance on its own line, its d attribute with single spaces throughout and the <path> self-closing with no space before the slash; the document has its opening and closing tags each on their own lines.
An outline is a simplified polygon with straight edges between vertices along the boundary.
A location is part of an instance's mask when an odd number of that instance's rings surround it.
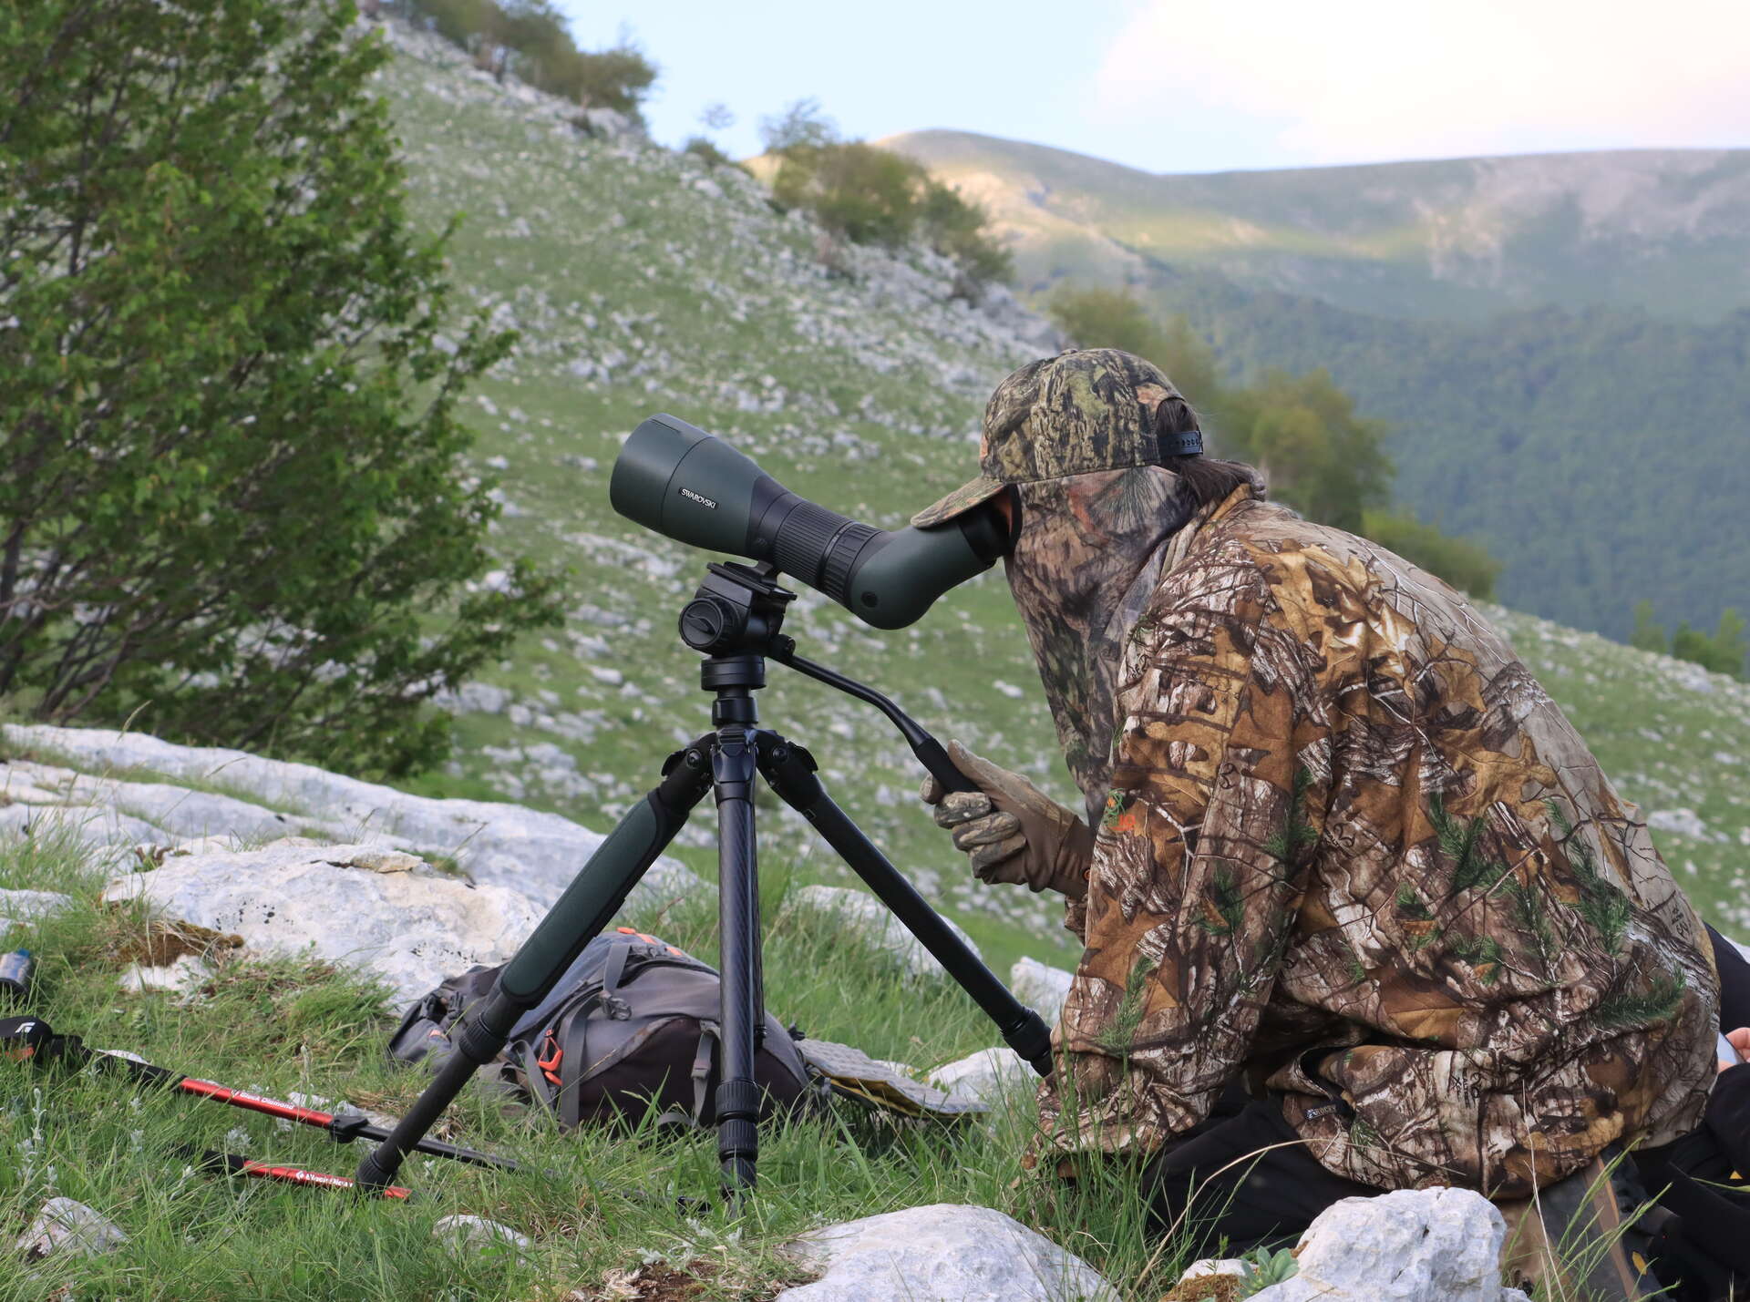
<svg viewBox="0 0 1750 1302">
<path fill-rule="evenodd" d="M 948 301 L 948 278 L 928 259 L 859 252 L 858 280 L 831 278 L 812 257 L 810 228 L 775 215 L 740 173 L 579 138 L 544 100 L 467 72 L 444 47 L 404 51 L 385 91 L 425 220 L 469 214 L 452 254 L 457 278 L 525 332 L 474 416 L 481 466 L 504 480 L 504 536 L 576 567 L 564 635 L 527 646 L 453 702 L 462 746 L 425 788 L 606 828 L 654 782 L 667 751 L 707 726 L 696 656 L 674 621 L 709 556 L 609 509 L 620 438 L 668 410 L 733 439 L 798 492 L 898 523 L 970 474 L 989 388 L 1054 341 L 1001 299 L 1001 317 Z M 1703 833 L 1659 833 L 1676 863 L 1694 863 L 1698 898 L 1736 908 L 1750 782 L 1729 756 L 1750 754 L 1750 690 L 1500 618 L 1626 794 Z M 805 654 L 889 690 L 940 735 L 1062 791 L 999 574 L 898 634 L 807 592 L 786 628 Z M 1068 961 L 1050 905 L 964 880 L 915 803 L 915 763 L 873 710 L 774 668 L 761 716 L 814 747 L 835 796 L 999 968 L 1020 954 Z M 788 810 L 763 826 L 774 833 L 768 875 L 844 880 Z M 712 845 L 709 824 L 695 822 L 677 854 L 709 872 Z"/>
</svg>

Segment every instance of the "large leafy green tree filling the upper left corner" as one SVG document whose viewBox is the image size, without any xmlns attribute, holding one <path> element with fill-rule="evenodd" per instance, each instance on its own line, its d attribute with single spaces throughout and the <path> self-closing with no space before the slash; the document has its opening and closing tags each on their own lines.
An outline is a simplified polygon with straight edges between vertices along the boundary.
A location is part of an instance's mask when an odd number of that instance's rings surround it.
<svg viewBox="0 0 1750 1302">
<path fill-rule="evenodd" d="M 0 693 L 40 719 L 404 774 L 434 693 L 556 623 L 453 413 L 513 340 L 439 334 L 352 19 L 0 10 Z"/>
</svg>

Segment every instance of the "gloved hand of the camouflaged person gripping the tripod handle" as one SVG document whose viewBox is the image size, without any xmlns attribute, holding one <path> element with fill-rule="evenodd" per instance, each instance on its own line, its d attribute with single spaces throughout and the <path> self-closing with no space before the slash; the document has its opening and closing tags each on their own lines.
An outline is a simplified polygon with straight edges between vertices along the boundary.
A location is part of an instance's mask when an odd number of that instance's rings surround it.
<svg viewBox="0 0 1750 1302">
<path fill-rule="evenodd" d="M 954 849 L 971 858 L 978 880 L 1083 900 L 1094 863 L 1088 824 L 1020 774 L 980 760 L 959 742 L 948 742 L 948 758 L 978 791 L 943 793 L 934 777 L 926 777 L 919 794 L 936 807 L 936 826 L 954 833 Z"/>
</svg>

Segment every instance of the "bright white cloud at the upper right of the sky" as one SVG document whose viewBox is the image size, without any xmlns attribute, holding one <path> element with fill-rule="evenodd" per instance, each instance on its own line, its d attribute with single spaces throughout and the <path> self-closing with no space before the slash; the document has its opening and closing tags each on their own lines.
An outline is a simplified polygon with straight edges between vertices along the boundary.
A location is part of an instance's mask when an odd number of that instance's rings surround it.
<svg viewBox="0 0 1750 1302">
<path fill-rule="evenodd" d="M 1237 112 L 1284 158 L 1750 145 L 1750 2 L 1141 0 L 1096 112 Z"/>
</svg>

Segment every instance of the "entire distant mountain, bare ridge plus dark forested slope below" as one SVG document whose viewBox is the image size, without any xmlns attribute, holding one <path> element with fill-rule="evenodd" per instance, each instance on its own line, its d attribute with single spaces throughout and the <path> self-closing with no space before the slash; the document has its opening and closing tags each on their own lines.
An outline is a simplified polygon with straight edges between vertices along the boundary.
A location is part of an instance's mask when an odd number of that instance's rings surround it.
<svg viewBox="0 0 1750 1302">
<path fill-rule="evenodd" d="M 1507 562 L 1519 609 L 1626 637 L 1750 607 L 1750 150 L 1155 177 L 954 131 L 1024 289 L 1129 284 L 1236 376 L 1326 368 L 1396 494 Z M 1195 394 L 1192 396 L 1195 399 Z M 1664 471 L 1670 467 L 1670 471 Z"/>
</svg>

